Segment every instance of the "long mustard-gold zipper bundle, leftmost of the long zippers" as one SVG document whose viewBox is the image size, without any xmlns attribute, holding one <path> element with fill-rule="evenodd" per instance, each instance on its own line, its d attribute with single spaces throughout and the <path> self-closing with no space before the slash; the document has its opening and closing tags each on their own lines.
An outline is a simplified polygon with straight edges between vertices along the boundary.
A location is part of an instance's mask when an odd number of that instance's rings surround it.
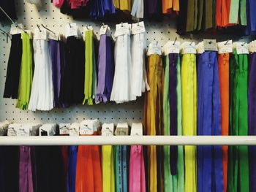
<svg viewBox="0 0 256 192">
<path fill-rule="evenodd" d="M 163 135 L 163 82 L 164 68 L 160 55 L 148 56 L 147 77 L 150 91 L 146 93 L 144 122 L 145 133 L 148 135 Z M 148 190 L 163 191 L 163 147 L 148 146 L 147 149 Z M 157 161 L 160 160 L 160 161 Z M 158 171 L 157 171 L 158 170 Z"/>
</svg>

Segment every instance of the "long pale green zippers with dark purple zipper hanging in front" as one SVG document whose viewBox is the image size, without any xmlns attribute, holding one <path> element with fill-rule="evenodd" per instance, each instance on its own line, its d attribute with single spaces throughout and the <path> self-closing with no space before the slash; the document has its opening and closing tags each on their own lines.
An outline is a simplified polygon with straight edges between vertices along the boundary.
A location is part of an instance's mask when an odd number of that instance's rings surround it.
<svg viewBox="0 0 256 192">
<path fill-rule="evenodd" d="M 173 60 L 174 58 L 174 60 Z M 173 63 L 174 61 L 174 63 Z M 170 69 L 172 68 L 172 69 Z M 173 73 L 174 71 L 174 73 Z M 172 84 L 172 85 L 170 85 Z M 173 104 L 173 97 L 176 95 L 176 104 Z M 171 107 L 170 107 L 171 106 Z M 172 108 L 172 110 L 170 110 Z M 170 135 L 170 128 L 173 128 L 173 119 L 176 116 L 177 134 L 182 135 L 181 129 L 181 69 L 178 54 L 165 56 L 165 82 L 163 95 L 164 109 L 164 134 Z M 176 110 L 176 115 L 170 115 Z M 174 120 L 175 121 L 175 120 Z M 171 123 L 172 122 L 172 123 Z M 176 134 L 176 135 L 177 135 Z M 165 191 L 184 191 L 184 160 L 183 147 L 171 149 L 164 146 L 164 189 Z"/>
</svg>

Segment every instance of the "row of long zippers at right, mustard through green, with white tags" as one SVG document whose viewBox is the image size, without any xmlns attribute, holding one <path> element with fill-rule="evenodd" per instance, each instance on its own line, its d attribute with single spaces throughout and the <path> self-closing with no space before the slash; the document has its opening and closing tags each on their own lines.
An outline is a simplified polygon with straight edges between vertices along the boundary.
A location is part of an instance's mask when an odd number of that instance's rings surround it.
<svg viewBox="0 0 256 192">
<path fill-rule="evenodd" d="M 178 45 L 148 46 L 144 132 L 255 135 L 255 42 L 250 54 L 243 42 Z M 247 146 L 148 146 L 147 191 L 255 191 L 253 154 Z"/>
</svg>

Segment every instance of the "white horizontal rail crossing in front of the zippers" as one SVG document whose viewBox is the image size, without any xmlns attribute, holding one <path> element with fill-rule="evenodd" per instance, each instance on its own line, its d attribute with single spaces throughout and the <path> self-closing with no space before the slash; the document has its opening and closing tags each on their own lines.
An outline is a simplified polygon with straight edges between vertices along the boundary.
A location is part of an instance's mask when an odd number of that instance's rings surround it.
<svg viewBox="0 0 256 192">
<path fill-rule="evenodd" d="M 0 137 L 0 145 L 256 145 L 256 136 Z"/>
</svg>

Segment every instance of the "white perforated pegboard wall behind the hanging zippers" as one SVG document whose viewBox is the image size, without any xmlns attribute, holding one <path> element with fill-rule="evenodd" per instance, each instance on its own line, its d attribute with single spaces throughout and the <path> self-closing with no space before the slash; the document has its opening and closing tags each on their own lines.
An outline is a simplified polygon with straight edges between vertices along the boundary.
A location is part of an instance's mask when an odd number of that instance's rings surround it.
<svg viewBox="0 0 256 192">
<path fill-rule="evenodd" d="M 69 15 L 63 15 L 58 8 L 54 7 L 49 0 L 42 0 L 42 7 L 23 3 L 21 0 L 15 1 L 18 23 L 23 23 L 26 29 L 34 30 L 37 24 L 44 24 L 52 31 L 62 32 L 68 23 L 77 23 L 83 33 L 83 26 L 90 25 L 99 32 L 102 23 L 92 22 L 91 20 L 73 20 Z M 10 22 L 1 23 L 1 28 L 5 31 L 10 31 Z M 115 31 L 116 23 L 105 23 L 110 26 L 112 31 Z M 159 45 L 164 45 L 168 40 L 174 40 L 176 34 L 176 26 L 174 19 L 168 19 L 163 22 L 149 23 L 146 22 L 146 43 L 147 45 L 152 40 L 157 40 Z M 200 37 L 200 38 L 195 38 Z M 198 42 L 204 37 L 201 35 L 195 36 L 193 39 Z M 208 35 L 208 38 L 215 36 Z M 220 37 L 219 40 L 230 39 L 228 37 Z M 178 40 L 183 42 L 184 38 L 178 37 Z M 7 43 L 6 37 L 0 34 L 0 120 L 11 120 L 17 123 L 65 123 L 65 122 L 80 122 L 84 119 L 99 118 L 102 122 L 118 123 L 118 122 L 141 122 L 143 120 L 143 104 L 144 99 L 140 98 L 137 101 L 126 104 L 97 104 L 93 106 L 75 105 L 67 109 L 53 109 L 50 112 L 31 112 L 23 111 L 15 108 L 16 100 L 3 99 L 4 82 L 7 73 L 7 62 L 10 53 L 10 41 Z"/>
</svg>

